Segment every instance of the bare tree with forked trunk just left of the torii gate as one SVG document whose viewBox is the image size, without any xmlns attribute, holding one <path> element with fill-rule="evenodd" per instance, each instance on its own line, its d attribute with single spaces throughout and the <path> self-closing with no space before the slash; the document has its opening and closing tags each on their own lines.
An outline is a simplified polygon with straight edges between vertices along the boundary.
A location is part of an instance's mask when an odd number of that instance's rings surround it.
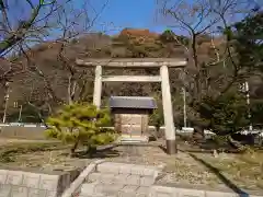
<svg viewBox="0 0 263 197">
<path fill-rule="evenodd" d="M 107 5 L 108 0 L 102 5 L 99 12 L 92 19 L 88 19 L 90 10 L 88 10 L 88 3 L 85 2 L 81 10 L 76 10 L 72 7 L 62 7 L 57 10 L 56 25 L 60 30 L 60 35 L 55 43 L 58 46 L 57 49 L 57 66 L 61 71 L 61 76 L 66 78 L 65 85 L 67 88 L 67 97 L 58 97 L 56 95 L 55 85 L 53 86 L 50 79 L 47 78 L 42 67 L 33 63 L 30 71 L 38 74 L 45 82 L 45 89 L 49 92 L 50 97 L 55 103 L 66 102 L 71 104 L 76 100 L 82 100 L 88 85 L 88 76 L 85 72 L 81 72 L 77 69 L 75 62 L 68 57 L 68 48 L 71 45 L 73 38 L 78 38 L 81 35 L 89 33 L 93 27 L 95 21 L 99 19 L 101 12 Z M 30 61 L 28 61 L 30 62 Z M 33 62 L 33 61 L 32 61 Z M 32 63 L 31 62 L 31 63 Z M 58 69 L 58 68 L 56 68 Z M 66 76 L 65 76 L 66 74 Z"/>
</svg>

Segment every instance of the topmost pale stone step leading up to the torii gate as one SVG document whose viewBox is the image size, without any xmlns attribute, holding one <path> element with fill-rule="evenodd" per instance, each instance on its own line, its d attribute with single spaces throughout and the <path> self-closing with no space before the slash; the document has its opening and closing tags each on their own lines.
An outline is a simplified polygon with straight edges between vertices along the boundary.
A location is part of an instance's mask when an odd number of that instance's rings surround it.
<svg viewBox="0 0 263 197">
<path fill-rule="evenodd" d="M 157 178 L 160 170 L 156 166 L 135 165 L 127 163 L 113 163 L 104 162 L 96 166 L 96 171 L 100 173 L 111 174 L 132 174 L 140 176 L 153 176 Z"/>
</svg>

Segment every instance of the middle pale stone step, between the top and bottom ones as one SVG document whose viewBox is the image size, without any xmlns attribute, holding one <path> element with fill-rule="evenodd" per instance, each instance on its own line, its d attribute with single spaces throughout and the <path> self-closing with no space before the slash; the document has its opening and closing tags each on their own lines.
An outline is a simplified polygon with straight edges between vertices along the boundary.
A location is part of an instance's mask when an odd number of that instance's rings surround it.
<svg viewBox="0 0 263 197">
<path fill-rule="evenodd" d="M 151 186 L 155 183 L 155 176 L 141 176 L 136 174 L 113 174 L 113 173 L 91 173 L 88 178 L 90 182 L 103 184 L 126 184 L 134 186 Z"/>
</svg>

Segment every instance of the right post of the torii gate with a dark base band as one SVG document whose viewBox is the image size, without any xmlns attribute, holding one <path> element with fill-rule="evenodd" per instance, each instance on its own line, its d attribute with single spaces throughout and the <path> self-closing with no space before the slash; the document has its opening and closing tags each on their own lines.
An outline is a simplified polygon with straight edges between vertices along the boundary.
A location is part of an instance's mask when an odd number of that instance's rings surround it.
<svg viewBox="0 0 263 197">
<path fill-rule="evenodd" d="M 164 115 L 167 152 L 168 154 L 174 154 L 176 153 L 175 129 L 173 123 L 169 72 L 168 67 L 165 65 L 161 66 L 160 76 L 161 76 L 162 106 Z"/>
</svg>

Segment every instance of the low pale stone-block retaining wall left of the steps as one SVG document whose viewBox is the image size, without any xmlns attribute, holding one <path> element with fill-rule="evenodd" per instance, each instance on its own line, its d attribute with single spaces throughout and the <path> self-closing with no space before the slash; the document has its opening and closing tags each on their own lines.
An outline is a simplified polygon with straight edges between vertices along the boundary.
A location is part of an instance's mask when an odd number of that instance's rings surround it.
<svg viewBox="0 0 263 197">
<path fill-rule="evenodd" d="M 52 174 L 0 170 L 0 196 L 57 197 L 79 174 L 78 170 Z"/>
</svg>

